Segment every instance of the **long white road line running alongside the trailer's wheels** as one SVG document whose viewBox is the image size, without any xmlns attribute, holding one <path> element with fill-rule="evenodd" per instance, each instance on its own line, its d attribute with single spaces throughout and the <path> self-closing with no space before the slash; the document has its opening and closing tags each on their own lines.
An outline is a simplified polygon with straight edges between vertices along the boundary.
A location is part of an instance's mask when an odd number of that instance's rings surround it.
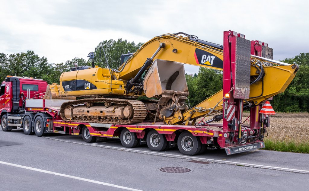
<svg viewBox="0 0 309 191">
<path fill-rule="evenodd" d="M 207 158 L 193 157 L 193 156 L 187 156 L 187 155 L 174 155 L 174 154 L 167 154 L 167 153 L 163 153 L 163 152 L 141 151 L 141 150 L 135 150 L 135 149 L 128 149 L 128 148 L 124 148 L 124 147 L 94 145 L 94 144 L 87 144 L 87 143 L 80 143 L 80 142 L 71 142 L 71 141 L 65 141 L 65 140 L 49 138 L 49 137 L 44 137 L 44 138 L 48 138 L 48 139 L 52 139 L 52 140 L 56 140 L 56 141 L 62 141 L 62 142 L 69 142 L 69 143 L 75 143 L 75 144 L 81 144 L 81 145 L 91 145 L 91 146 L 103 147 L 103 148 L 107 148 L 107 149 L 129 151 L 129 152 L 135 152 L 135 153 L 141 153 L 141 154 L 165 156 L 165 157 L 172 157 L 172 158 L 178 158 L 178 159 L 200 160 L 200 161 L 206 161 L 206 162 L 231 164 L 231 165 L 244 166 L 244 167 L 264 168 L 264 169 L 280 170 L 280 171 L 286 171 L 286 172 L 297 172 L 297 173 L 309 174 L 309 170 L 273 167 L 273 166 L 265 166 L 265 165 L 260 165 L 260 164 L 232 162 L 232 161 L 217 160 L 217 159 L 207 159 Z"/>
</svg>

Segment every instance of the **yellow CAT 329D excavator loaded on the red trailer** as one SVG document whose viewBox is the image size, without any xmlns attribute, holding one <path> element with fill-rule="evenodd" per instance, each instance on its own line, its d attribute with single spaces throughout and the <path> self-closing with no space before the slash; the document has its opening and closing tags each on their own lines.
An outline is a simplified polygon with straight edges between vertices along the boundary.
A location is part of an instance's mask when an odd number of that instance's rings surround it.
<svg viewBox="0 0 309 191">
<path fill-rule="evenodd" d="M 123 55 L 122 55 L 123 56 Z M 163 121 L 195 125 L 196 119 L 223 110 L 223 91 L 194 107 L 186 103 L 188 87 L 184 64 L 223 70 L 223 46 L 186 33 L 164 34 L 122 57 L 118 69 L 78 66 L 64 72 L 60 85 L 48 87 L 45 99 L 76 99 L 62 104 L 64 120 L 134 124 Z M 93 54 L 90 54 L 93 58 Z M 244 106 L 256 106 L 283 92 L 297 65 L 251 55 L 250 95 Z M 141 99 L 142 96 L 153 99 Z M 201 95 L 202 96 L 202 95 Z M 222 116 L 222 115 L 221 115 Z M 222 118 L 222 117 L 221 117 Z"/>
</svg>

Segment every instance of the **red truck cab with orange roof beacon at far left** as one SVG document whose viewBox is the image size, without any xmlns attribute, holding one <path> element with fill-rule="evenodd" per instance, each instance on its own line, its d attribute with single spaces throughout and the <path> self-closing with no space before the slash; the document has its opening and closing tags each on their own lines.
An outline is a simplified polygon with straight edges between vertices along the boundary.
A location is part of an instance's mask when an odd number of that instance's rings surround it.
<svg viewBox="0 0 309 191">
<path fill-rule="evenodd" d="M 6 76 L 0 86 L 2 130 L 21 127 L 27 99 L 43 99 L 47 82 L 41 79 Z"/>
</svg>

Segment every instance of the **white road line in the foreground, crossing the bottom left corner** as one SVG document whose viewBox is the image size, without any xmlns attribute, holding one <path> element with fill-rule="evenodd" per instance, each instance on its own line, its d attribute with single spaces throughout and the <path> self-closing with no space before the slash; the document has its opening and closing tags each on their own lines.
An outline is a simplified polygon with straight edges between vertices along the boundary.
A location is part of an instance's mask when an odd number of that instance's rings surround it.
<svg viewBox="0 0 309 191">
<path fill-rule="evenodd" d="M 28 170 L 37 171 L 37 172 L 43 172 L 43 173 L 46 173 L 46 174 L 52 174 L 52 175 L 56 175 L 56 176 L 63 176 L 63 177 L 72 178 L 72 179 L 76 179 L 76 180 L 83 180 L 83 181 L 86 181 L 86 182 L 91 182 L 91 183 L 95 183 L 95 184 L 99 184 L 99 185 L 105 185 L 105 186 L 110 186 L 110 187 L 130 190 L 130 191 L 142 191 L 142 190 L 138 190 L 138 189 L 128 188 L 128 187 L 125 187 L 125 186 L 119 186 L 119 185 L 109 184 L 109 183 L 106 183 L 106 182 L 100 182 L 100 181 L 91 180 L 91 179 L 87 179 L 87 178 L 81 178 L 81 177 L 78 177 L 78 176 L 71 176 L 71 175 L 61 174 L 61 173 L 57 173 L 57 172 L 42 170 L 42 169 L 38 169 L 38 168 L 22 166 L 22 165 L 19 165 L 19 164 L 7 163 L 7 162 L 3 162 L 3 161 L 0 161 L 0 164 L 5 164 L 5 165 L 13 166 L 13 167 L 18 167 L 18 168 L 24 168 L 24 169 L 28 169 Z"/>
</svg>

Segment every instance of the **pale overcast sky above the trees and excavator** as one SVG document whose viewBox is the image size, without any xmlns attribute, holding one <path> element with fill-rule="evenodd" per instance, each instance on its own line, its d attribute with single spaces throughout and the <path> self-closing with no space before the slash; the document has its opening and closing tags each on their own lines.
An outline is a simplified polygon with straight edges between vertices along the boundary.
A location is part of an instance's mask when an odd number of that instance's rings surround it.
<svg viewBox="0 0 309 191">
<path fill-rule="evenodd" d="M 309 0 L 0 2 L 0 52 L 34 50 L 51 63 L 86 59 L 103 40 L 138 43 L 176 32 L 223 44 L 223 31 L 233 30 L 268 43 L 276 60 L 309 52 Z"/>
</svg>

